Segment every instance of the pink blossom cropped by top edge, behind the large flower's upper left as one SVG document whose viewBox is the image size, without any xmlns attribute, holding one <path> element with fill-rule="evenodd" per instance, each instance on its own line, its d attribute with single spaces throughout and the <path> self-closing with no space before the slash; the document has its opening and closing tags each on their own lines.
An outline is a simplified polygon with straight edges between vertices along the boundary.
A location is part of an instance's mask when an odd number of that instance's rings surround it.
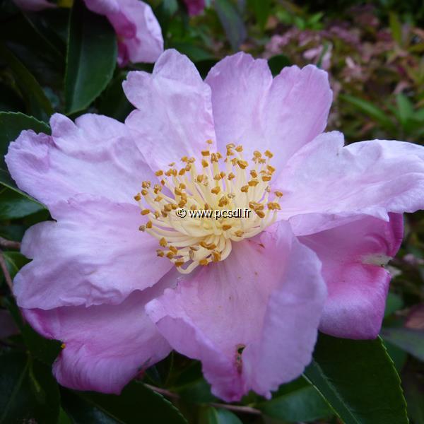
<svg viewBox="0 0 424 424">
<path fill-rule="evenodd" d="M 56 7 L 46 0 L 14 0 L 26 11 Z M 118 64 L 154 62 L 163 52 L 163 36 L 151 6 L 140 0 L 84 0 L 95 13 L 106 16 L 118 39 Z"/>
</svg>

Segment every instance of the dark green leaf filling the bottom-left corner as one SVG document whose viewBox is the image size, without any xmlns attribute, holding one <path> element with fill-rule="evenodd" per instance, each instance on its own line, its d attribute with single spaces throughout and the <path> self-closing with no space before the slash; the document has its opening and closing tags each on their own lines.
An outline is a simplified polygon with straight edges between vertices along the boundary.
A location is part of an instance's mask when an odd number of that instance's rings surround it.
<svg viewBox="0 0 424 424">
<path fill-rule="evenodd" d="M 0 423 L 57 423 L 59 389 L 49 367 L 17 351 L 0 352 Z"/>
</svg>

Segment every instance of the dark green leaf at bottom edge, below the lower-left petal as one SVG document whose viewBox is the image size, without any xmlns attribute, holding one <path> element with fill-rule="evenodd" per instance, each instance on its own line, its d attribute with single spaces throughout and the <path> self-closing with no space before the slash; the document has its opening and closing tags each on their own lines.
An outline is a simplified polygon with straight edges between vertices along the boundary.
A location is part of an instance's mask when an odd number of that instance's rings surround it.
<svg viewBox="0 0 424 424">
<path fill-rule="evenodd" d="M 78 396 L 119 423 L 187 424 L 170 401 L 141 383 L 131 382 L 119 396 L 94 392 L 81 392 Z"/>
</svg>

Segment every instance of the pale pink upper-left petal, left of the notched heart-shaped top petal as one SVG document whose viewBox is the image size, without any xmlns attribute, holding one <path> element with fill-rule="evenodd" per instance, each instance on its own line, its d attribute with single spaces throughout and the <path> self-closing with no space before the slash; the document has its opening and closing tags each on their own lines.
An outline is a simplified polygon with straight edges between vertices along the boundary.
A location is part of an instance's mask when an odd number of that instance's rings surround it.
<svg viewBox="0 0 424 424">
<path fill-rule="evenodd" d="M 153 73 L 130 72 L 123 84 L 138 110 L 126 119 L 140 150 L 154 170 L 199 157 L 206 141 L 215 141 L 211 89 L 192 62 L 176 50 L 158 59 Z"/>
</svg>

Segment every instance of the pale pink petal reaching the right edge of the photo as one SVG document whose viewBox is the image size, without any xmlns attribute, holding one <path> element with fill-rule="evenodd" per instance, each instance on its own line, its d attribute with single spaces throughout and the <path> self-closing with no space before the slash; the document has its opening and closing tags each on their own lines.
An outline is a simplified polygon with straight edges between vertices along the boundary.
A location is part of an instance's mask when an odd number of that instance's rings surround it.
<svg viewBox="0 0 424 424">
<path fill-rule="evenodd" d="M 290 159 L 273 189 L 283 192 L 281 219 L 307 235 L 370 215 L 424 208 L 424 147 L 373 140 L 343 147 L 336 131 L 317 137 Z"/>
</svg>

